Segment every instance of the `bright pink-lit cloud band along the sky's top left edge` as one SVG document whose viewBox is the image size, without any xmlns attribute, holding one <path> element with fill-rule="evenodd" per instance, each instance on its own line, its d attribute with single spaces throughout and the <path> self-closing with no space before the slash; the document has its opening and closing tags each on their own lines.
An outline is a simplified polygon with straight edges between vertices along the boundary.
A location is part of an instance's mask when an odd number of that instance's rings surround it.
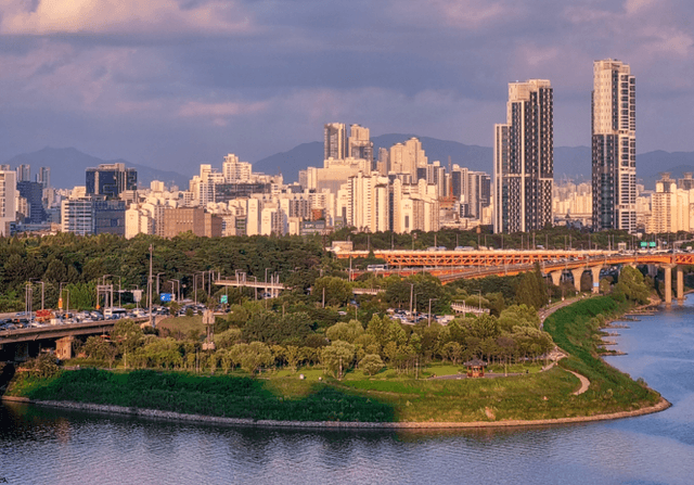
<svg viewBox="0 0 694 485">
<path fill-rule="evenodd" d="M 1 0 L 3 35 L 248 33 L 249 13 L 233 1 L 183 8 L 175 0 Z"/>
</svg>

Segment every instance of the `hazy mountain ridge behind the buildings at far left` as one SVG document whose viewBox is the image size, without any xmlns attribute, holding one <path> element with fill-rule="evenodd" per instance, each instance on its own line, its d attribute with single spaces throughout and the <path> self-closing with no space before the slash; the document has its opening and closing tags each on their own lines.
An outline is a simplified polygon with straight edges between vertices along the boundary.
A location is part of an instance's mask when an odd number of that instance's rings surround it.
<svg viewBox="0 0 694 485">
<path fill-rule="evenodd" d="M 123 163 L 126 167 L 138 170 L 138 183 L 149 186 L 152 180 L 162 180 L 166 183 L 176 183 L 181 188 L 188 188 L 189 177 L 176 171 L 159 170 L 145 165 L 133 164 L 125 159 L 101 159 L 88 155 L 74 148 L 53 149 L 47 146 L 38 152 L 24 153 L 10 158 L 8 162 L 12 168 L 21 164 L 31 166 L 31 179 L 38 173 L 39 167 L 51 168 L 51 186 L 61 189 L 69 189 L 85 184 L 85 171 L 89 167 L 100 164 Z"/>
</svg>

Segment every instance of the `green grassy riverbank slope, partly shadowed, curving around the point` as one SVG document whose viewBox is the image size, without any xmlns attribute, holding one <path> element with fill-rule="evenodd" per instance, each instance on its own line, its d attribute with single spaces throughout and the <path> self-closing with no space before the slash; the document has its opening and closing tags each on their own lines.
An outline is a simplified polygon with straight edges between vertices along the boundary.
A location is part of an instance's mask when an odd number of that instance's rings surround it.
<svg viewBox="0 0 694 485">
<path fill-rule="evenodd" d="M 653 405 L 657 393 L 595 357 L 600 314 L 619 311 L 611 298 L 578 302 L 549 317 L 545 329 L 570 357 L 547 372 L 498 379 L 414 380 L 355 371 L 337 381 L 317 371 L 277 372 L 264 379 L 203 376 L 138 370 L 82 369 L 39 379 L 22 372 L 9 388 L 15 396 L 150 408 L 181 413 L 279 421 L 483 422 L 548 420 L 628 411 Z"/>
</svg>

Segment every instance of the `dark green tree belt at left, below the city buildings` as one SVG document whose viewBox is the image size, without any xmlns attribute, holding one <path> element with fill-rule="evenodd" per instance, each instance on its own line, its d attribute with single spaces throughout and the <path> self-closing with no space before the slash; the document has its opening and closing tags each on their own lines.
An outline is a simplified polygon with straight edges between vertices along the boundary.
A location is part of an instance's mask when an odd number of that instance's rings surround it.
<svg viewBox="0 0 694 485">
<path fill-rule="evenodd" d="M 183 233 L 167 240 L 141 234 L 132 240 L 100 234 L 78 237 L 61 233 L 42 238 L 0 238 L 0 311 L 24 308 L 25 285 L 33 282 L 34 308 L 41 302 L 57 306 L 61 283 L 68 290 L 72 308 L 95 306 L 95 285 L 106 281 L 114 289 L 145 289 L 150 244 L 153 245 L 153 273 L 159 275 L 160 291 L 192 297 L 197 286 L 198 299 L 206 298 L 202 271 L 233 278 L 236 271 L 246 278 L 264 281 L 278 273 L 281 281 L 306 291 L 320 275 L 339 271 L 330 264 L 316 238 L 197 238 Z M 266 271 L 267 269 L 267 271 Z M 104 278 L 105 277 L 105 278 Z M 43 282 L 43 289 L 41 284 Z M 208 286 L 206 286 L 208 289 Z M 174 291 L 175 290 L 175 291 Z M 156 291 L 156 288 L 154 289 Z M 124 294 L 131 302 L 129 294 Z M 234 292 L 231 292 L 234 296 Z"/>
</svg>

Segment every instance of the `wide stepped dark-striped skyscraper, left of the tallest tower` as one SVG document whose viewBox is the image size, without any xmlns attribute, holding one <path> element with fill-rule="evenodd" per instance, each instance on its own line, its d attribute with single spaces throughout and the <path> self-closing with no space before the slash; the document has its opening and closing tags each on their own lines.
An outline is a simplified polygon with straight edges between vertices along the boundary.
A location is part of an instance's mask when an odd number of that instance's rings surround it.
<svg viewBox="0 0 694 485">
<path fill-rule="evenodd" d="M 509 84 L 506 124 L 494 125 L 494 232 L 552 222 L 553 105 L 549 80 Z"/>
</svg>

